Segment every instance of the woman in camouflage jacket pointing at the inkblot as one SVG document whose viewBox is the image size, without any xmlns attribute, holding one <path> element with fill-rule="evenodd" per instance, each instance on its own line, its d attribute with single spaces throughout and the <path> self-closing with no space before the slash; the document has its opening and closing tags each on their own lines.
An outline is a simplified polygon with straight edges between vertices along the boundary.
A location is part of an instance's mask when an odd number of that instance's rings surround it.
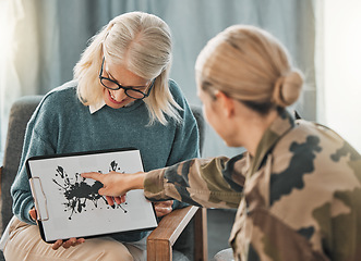
<svg viewBox="0 0 361 261">
<path fill-rule="evenodd" d="M 99 192 L 116 201 L 144 188 L 153 200 L 238 208 L 236 260 L 359 260 L 361 157 L 332 129 L 287 112 L 302 75 L 282 45 L 256 27 L 231 26 L 206 45 L 195 70 L 208 123 L 244 154 L 83 176 L 100 181 Z"/>
</svg>

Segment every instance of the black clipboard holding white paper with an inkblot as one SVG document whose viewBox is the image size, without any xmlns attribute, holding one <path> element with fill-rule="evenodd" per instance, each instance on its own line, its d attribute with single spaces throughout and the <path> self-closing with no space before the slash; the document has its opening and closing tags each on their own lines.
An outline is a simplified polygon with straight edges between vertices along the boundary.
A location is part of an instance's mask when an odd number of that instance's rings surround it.
<svg viewBox="0 0 361 261">
<path fill-rule="evenodd" d="M 44 241 L 89 238 L 130 231 L 148 231 L 158 222 L 142 189 L 129 191 L 125 202 L 109 206 L 98 194 L 103 184 L 81 173 L 143 171 L 140 150 L 122 148 L 32 157 L 26 171 Z"/>
</svg>

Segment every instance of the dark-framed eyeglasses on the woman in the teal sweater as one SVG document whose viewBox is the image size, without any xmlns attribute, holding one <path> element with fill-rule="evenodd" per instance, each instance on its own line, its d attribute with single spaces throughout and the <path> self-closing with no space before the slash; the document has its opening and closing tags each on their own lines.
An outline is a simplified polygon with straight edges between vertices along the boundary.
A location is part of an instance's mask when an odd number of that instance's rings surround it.
<svg viewBox="0 0 361 261">
<path fill-rule="evenodd" d="M 103 67 L 104 67 L 104 61 L 105 58 L 103 58 L 103 62 L 101 62 L 101 69 L 100 69 L 100 73 L 99 73 L 99 80 L 100 84 L 111 90 L 119 90 L 119 89 L 123 89 L 125 95 L 132 99 L 136 99 L 136 100 L 142 100 L 146 97 L 149 96 L 151 90 L 154 86 L 154 79 L 152 80 L 151 86 L 121 86 L 120 84 L 118 84 L 116 80 L 108 78 L 108 77 L 104 77 L 103 75 Z M 145 94 L 143 92 L 142 88 L 146 88 L 148 87 L 148 91 Z"/>
</svg>

